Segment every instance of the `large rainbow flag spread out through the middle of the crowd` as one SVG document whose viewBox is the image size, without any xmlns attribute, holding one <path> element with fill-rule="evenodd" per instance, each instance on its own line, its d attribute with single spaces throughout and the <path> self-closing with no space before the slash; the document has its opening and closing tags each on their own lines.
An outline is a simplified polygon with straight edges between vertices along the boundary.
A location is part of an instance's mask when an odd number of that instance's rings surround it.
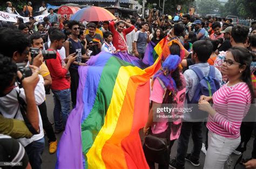
<svg viewBox="0 0 256 169">
<path fill-rule="evenodd" d="M 79 67 L 77 105 L 58 145 L 56 168 L 149 168 L 139 129 L 160 60 L 142 69 L 136 57 L 102 52 Z"/>
</svg>

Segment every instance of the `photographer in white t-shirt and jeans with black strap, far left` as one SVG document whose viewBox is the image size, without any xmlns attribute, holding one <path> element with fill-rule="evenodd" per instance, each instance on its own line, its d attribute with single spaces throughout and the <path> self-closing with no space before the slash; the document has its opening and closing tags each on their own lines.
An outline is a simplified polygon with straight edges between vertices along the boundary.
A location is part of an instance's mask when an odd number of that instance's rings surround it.
<svg viewBox="0 0 256 169">
<path fill-rule="evenodd" d="M 0 44 L 0 53 L 6 55 L 6 57 L 9 57 L 16 63 L 23 63 L 30 55 L 30 42 L 24 34 L 19 31 L 2 29 L 0 31 Z M 25 147 L 26 153 L 28 153 L 32 168 L 41 168 L 41 155 L 44 150 L 42 118 L 37 105 L 44 102 L 45 90 L 43 77 L 38 75 L 39 71 L 36 68 L 41 66 L 42 62 L 43 55 L 39 52 L 33 59 L 33 66 L 30 66 L 30 68 L 23 67 L 22 65 L 19 66 L 19 69 L 23 72 L 18 74 L 18 81 L 20 82 L 19 86 L 17 86 L 18 83 L 15 82 L 17 75 L 14 73 L 4 73 L 4 78 L 1 80 L 2 84 L 3 81 L 9 79 L 9 86 L 6 86 L 8 90 L 6 90 L 5 87 L 5 95 L 0 97 L 0 110 L 2 115 L 4 117 L 25 121 L 29 130 L 33 133 L 33 136 L 29 139 L 19 139 L 19 142 Z M 10 68 L 10 66 L 6 67 L 5 65 L 6 64 L 1 65 L 3 71 Z M 8 70 L 6 72 L 10 71 Z M 31 76 L 26 78 L 26 75 Z M 37 81 L 33 81 L 33 78 L 37 78 Z M 29 93 L 29 91 L 33 91 L 33 93 Z M 31 99 L 31 101 L 33 100 L 35 103 L 26 103 L 28 99 Z M 33 108 L 32 111 L 31 107 Z"/>
</svg>

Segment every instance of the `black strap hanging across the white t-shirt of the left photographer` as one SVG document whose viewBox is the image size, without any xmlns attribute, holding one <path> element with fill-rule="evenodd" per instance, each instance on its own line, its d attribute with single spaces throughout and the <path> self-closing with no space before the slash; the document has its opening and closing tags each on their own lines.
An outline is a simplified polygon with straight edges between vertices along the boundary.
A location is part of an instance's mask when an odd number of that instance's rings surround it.
<svg viewBox="0 0 256 169">
<path fill-rule="evenodd" d="M 18 91 L 16 91 L 17 93 L 17 99 L 18 99 L 18 102 L 19 102 L 19 110 L 21 110 L 21 114 L 22 114 L 22 117 L 24 119 L 24 122 L 26 124 L 26 126 L 28 127 L 29 131 L 33 134 L 33 135 L 37 135 L 39 134 L 39 132 L 37 132 L 32 124 L 29 122 L 29 119 L 26 117 L 26 103 L 25 101 L 23 100 L 23 98 L 19 97 L 19 93 Z M 16 116 L 16 115 L 15 115 Z"/>
</svg>

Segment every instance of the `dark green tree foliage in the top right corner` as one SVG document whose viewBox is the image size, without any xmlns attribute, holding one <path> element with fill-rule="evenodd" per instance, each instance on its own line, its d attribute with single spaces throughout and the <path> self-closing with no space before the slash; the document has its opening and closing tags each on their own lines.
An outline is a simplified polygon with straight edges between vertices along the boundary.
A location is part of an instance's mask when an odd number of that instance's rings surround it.
<svg viewBox="0 0 256 169">
<path fill-rule="evenodd" d="M 240 18 L 256 17 L 255 0 L 228 0 L 222 11 L 223 16 L 234 15 Z"/>
</svg>

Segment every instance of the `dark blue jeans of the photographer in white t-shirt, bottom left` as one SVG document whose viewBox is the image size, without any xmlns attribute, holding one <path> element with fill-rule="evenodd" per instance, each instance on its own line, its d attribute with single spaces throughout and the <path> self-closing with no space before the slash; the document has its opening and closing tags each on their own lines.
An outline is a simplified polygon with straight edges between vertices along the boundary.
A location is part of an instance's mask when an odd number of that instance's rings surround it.
<svg viewBox="0 0 256 169">
<path fill-rule="evenodd" d="M 33 169 L 41 169 L 42 154 L 44 151 L 44 137 L 25 146 L 29 156 L 29 163 Z"/>
</svg>

